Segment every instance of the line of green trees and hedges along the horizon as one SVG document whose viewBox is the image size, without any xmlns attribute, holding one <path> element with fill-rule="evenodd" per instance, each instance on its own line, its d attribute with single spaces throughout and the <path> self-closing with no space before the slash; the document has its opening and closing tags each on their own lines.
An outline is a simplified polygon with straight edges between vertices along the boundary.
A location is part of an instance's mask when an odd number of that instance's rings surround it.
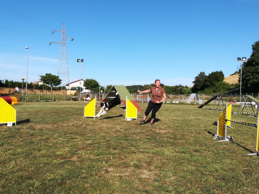
<svg viewBox="0 0 259 194">
<path fill-rule="evenodd" d="M 241 68 L 239 69 L 239 80 L 240 83 L 240 73 Z M 233 74 L 235 74 L 233 73 Z M 2 82 L 0 80 L 0 87 L 25 87 L 24 79 L 23 81 L 13 81 L 13 80 L 5 80 Z M 40 75 L 40 80 L 43 81 L 44 84 L 33 84 L 27 83 L 27 88 L 35 88 L 35 89 L 53 89 L 60 90 L 63 89 L 64 86 L 59 86 L 61 84 L 61 79 L 59 76 L 52 75 L 50 73 L 46 73 L 45 76 Z M 161 87 L 163 87 L 168 94 L 189 94 L 189 93 L 217 93 L 224 92 L 235 89 L 240 84 L 232 84 L 226 83 L 224 81 L 224 73 L 220 71 L 213 71 L 208 75 L 205 72 L 201 71 L 195 78 L 193 83 L 193 87 L 183 86 L 183 85 L 175 85 L 175 86 L 167 86 L 161 83 Z M 130 93 L 137 93 L 137 90 L 140 91 L 149 89 L 155 86 L 155 84 L 145 84 L 145 85 L 132 85 L 126 86 Z M 252 44 L 252 53 L 250 58 L 246 62 L 242 64 L 242 92 L 248 93 L 257 93 L 259 92 L 259 41 L 254 42 Z M 95 79 L 85 79 L 84 81 L 85 89 L 90 89 L 93 92 L 99 92 L 104 89 L 106 92 L 109 92 L 112 88 L 112 85 L 107 85 L 106 88 L 101 86 L 98 81 Z M 100 88 L 101 87 L 101 88 Z M 64 88 L 65 89 L 65 88 Z"/>
</svg>

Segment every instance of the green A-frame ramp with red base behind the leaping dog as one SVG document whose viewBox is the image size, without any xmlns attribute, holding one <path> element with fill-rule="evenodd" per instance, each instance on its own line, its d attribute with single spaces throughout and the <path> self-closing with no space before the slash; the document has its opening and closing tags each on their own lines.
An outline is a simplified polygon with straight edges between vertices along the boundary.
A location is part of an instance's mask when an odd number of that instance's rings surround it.
<svg viewBox="0 0 259 194">
<path fill-rule="evenodd" d="M 111 90 L 106 95 L 103 101 L 110 102 L 112 99 L 115 98 L 116 92 L 119 92 L 120 98 L 123 101 L 124 105 L 126 106 L 126 96 L 131 101 L 131 103 L 138 109 L 138 111 L 142 111 L 139 105 L 136 103 L 134 98 L 131 96 L 130 92 L 127 88 L 123 85 L 113 85 Z"/>
</svg>

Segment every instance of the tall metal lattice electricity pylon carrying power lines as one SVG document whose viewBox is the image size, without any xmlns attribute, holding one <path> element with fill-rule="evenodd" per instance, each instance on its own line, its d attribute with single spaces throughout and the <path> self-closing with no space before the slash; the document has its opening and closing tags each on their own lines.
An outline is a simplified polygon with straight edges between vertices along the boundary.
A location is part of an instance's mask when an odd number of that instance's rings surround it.
<svg viewBox="0 0 259 194">
<path fill-rule="evenodd" d="M 69 36 L 66 36 L 66 27 L 65 23 L 62 24 L 61 30 L 53 30 L 52 34 L 54 32 L 61 32 L 61 42 L 49 42 L 49 45 L 51 43 L 59 43 L 61 44 L 60 48 L 60 55 L 59 55 L 59 68 L 57 70 L 57 76 L 62 80 L 61 82 L 63 85 L 68 84 L 69 90 L 70 90 L 70 81 L 69 81 L 69 73 L 68 73 L 68 62 L 67 62 L 67 47 L 66 47 L 66 39 L 70 38 L 71 41 L 74 40 L 74 38 L 71 38 Z"/>
</svg>

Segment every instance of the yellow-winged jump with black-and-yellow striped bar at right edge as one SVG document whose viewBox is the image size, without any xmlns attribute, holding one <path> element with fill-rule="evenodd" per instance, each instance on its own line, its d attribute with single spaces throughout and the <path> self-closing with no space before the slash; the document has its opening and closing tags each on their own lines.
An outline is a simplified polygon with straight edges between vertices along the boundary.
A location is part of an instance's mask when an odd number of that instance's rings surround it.
<svg viewBox="0 0 259 194">
<path fill-rule="evenodd" d="M 255 153 L 247 154 L 247 155 L 259 155 L 259 119 L 258 119 L 258 111 L 259 106 L 257 107 L 257 117 L 256 117 L 256 124 L 241 122 L 241 121 L 233 121 L 229 118 L 229 115 L 231 115 L 232 105 L 228 105 L 228 102 L 226 102 L 226 108 L 221 113 L 219 121 L 218 121 L 218 127 L 217 127 L 217 135 L 213 137 L 215 140 L 216 138 L 220 139 L 219 141 L 229 141 L 234 139 L 231 136 L 227 136 L 227 122 L 235 122 L 238 124 L 244 124 L 248 126 L 256 127 L 256 145 L 255 145 Z M 224 138 L 224 140 L 222 140 Z M 217 141 L 217 142 L 219 142 Z"/>
</svg>

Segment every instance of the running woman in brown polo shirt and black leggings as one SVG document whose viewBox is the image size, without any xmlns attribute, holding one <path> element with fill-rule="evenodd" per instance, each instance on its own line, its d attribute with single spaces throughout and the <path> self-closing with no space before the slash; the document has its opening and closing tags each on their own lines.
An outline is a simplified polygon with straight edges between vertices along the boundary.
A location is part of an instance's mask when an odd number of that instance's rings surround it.
<svg viewBox="0 0 259 194">
<path fill-rule="evenodd" d="M 152 110 L 151 122 L 149 123 L 149 125 L 151 126 L 151 125 L 154 124 L 154 120 L 156 118 L 156 112 L 161 108 L 162 102 L 164 100 L 166 100 L 166 91 L 164 91 L 164 88 L 162 88 L 160 86 L 160 80 L 156 79 L 154 87 L 151 87 L 150 89 L 144 90 L 142 92 L 138 89 L 138 92 L 139 93 L 149 93 L 149 92 L 152 92 L 152 98 L 150 99 L 150 102 L 148 103 L 148 106 L 147 106 L 147 109 L 145 111 L 144 117 L 139 122 L 139 123 L 145 122 L 148 114 Z"/>
</svg>

